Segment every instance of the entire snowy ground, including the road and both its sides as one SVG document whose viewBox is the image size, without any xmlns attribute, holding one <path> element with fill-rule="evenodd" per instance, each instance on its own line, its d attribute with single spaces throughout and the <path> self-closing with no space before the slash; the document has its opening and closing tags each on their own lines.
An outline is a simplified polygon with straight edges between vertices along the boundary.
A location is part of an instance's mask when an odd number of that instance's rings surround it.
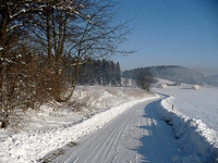
<svg viewBox="0 0 218 163">
<path fill-rule="evenodd" d="M 97 162 L 217 163 L 217 88 L 156 88 L 158 100 L 138 89 L 81 87 L 77 110 L 49 103 L 37 114 L 29 112 L 33 121 L 23 131 L 0 130 L 0 162 L 78 162 L 87 143 L 96 146 L 87 151 Z M 93 141 L 81 141 L 90 134 Z M 81 158 L 73 156 L 74 150 Z"/>
</svg>

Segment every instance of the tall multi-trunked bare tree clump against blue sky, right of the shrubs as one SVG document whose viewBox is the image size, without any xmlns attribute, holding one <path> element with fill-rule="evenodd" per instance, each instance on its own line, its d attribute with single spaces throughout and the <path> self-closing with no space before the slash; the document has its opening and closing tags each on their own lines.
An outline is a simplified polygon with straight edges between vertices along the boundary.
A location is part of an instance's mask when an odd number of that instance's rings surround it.
<svg viewBox="0 0 218 163">
<path fill-rule="evenodd" d="M 130 33 L 129 21 L 116 22 L 118 10 L 112 0 L 51 1 L 44 5 L 41 12 L 34 13 L 27 29 L 31 30 L 31 41 L 47 51 L 47 65 L 59 78 L 57 101 L 66 101 L 72 97 L 78 67 L 89 58 L 133 52 L 119 49 Z M 65 62 L 65 59 L 71 62 Z M 64 72 L 69 67 L 73 71 L 71 93 L 63 98 Z"/>
</svg>

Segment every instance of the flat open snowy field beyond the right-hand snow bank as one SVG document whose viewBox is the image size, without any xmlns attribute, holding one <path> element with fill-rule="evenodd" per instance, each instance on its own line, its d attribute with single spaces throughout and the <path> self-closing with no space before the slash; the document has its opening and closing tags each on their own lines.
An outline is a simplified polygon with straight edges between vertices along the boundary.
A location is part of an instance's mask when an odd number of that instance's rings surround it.
<svg viewBox="0 0 218 163">
<path fill-rule="evenodd" d="M 169 95 L 165 106 L 191 118 L 202 120 L 208 127 L 218 131 L 218 88 L 201 87 L 197 90 L 191 86 L 168 87 L 158 92 Z"/>
</svg>

